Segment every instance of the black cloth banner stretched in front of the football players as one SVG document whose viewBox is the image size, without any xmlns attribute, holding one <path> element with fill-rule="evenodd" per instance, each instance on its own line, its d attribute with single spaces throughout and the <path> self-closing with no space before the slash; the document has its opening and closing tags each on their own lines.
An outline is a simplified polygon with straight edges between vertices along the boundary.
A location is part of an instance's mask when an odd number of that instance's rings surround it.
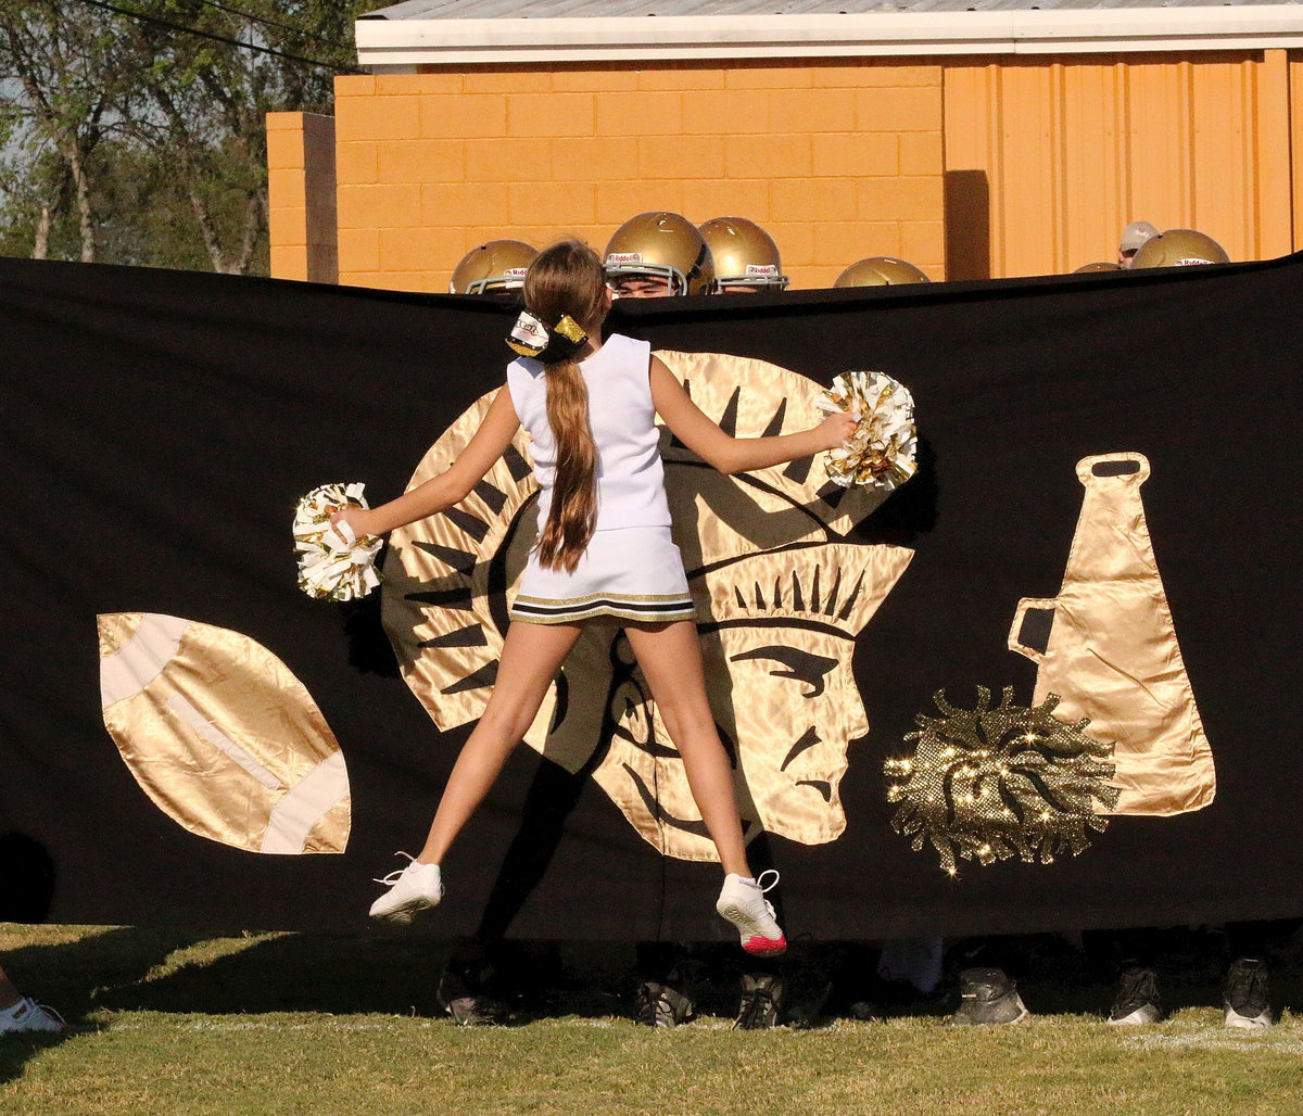
<svg viewBox="0 0 1303 1116">
<path fill-rule="evenodd" d="M 657 349 L 760 358 L 823 384 L 881 370 L 915 395 L 919 475 L 848 539 L 915 556 L 855 643 L 870 728 L 840 783 L 846 830 L 827 844 L 753 844 L 758 866 L 782 870 L 790 936 L 1303 914 L 1290 720 L 1300 293 L 1291 257 L 616 307 L 611 327 Z M 439 733 L 397 676 L 374 599 L 297 590 L 289 521 L 324 482 L 365 481 L 373 500 L 401 492 L 502 382 L 509 314 L 478 298 L 0 260 L 0 917 L 364 925 L 371 876 L 420 846 L 465 729 Z M 993 702 L 1012 686 L 1033 704 L 1037 664 L 1010 650 L 1011 622 L 1024 598 L 1059 594 L 1080 542 L 1078 466 L 1101 456 L 1123 461 L 1101 477 L 1136 456 L 1149 471 L 1144 522 L 1216 797 L 1111 816 L 1080 856 L 960 859 L 950 876 L 893 828 L 883 760 L 909 754 L 916 715 L 939 716 L 938 690 L 972 708 L 977 686 Z M 241 633 L 285 664 L 347 759 L 343 856 L 232 848 L 151 803 L 104 725 L 107 613 Z M 1029 619 L 1022 635 L 1046 625 Z M 582 771 L 525 747 L 444 875 L 429 923 L 440 934 L 726 936 L 717 869 L 661 857 Z"/>
</svg>

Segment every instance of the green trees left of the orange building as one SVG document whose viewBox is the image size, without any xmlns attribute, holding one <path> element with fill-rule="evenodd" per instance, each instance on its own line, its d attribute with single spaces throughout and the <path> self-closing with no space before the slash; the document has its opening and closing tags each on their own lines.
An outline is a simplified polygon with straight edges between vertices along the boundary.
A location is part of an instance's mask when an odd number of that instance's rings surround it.
<svg viewBox="0 0 1303 1116">
<path fill-rule="evenodd" d="M 266 273 L 265 113 L 328 113 L 374 4 L 103 4 L 0 0 L 0 253 Z"/>
</svg>

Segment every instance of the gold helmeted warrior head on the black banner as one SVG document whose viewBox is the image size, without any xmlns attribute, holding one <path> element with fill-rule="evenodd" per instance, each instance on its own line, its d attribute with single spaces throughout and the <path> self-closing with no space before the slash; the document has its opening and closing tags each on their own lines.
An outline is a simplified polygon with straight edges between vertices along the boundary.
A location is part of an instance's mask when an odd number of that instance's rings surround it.
<svg viewBox="0 0 1303 1116">
<path fill-rule="evenodd" d="M 658 356 L 731 434 L 783 434 L 818 421 L 818 385 L 787 369 L 708 353 Z M 413 486 L 448 466 L 490 401 L 477 401 L 435 443 Z M 391 537 L 384 626 L 408 685 L 440 729 L 483 711 L 533 544 L 534 481 L 528 440 L 517 439 L 465 501 Z M 885 495 L 830 483 L 818 460 L 723 477 L 668 432 L 661 451 L 711 710 L 748 832 L 835 840 L 846 826 L 838 788 L 847 747 L 868 732 L 851 673 L 855 639 L 913 552 L 840 542 Z M 618 624 L 588 626 L 526 742 L 568 771 L 590 771 L 666 856 L 714 859 L 683 763 Z"/>
</svg>

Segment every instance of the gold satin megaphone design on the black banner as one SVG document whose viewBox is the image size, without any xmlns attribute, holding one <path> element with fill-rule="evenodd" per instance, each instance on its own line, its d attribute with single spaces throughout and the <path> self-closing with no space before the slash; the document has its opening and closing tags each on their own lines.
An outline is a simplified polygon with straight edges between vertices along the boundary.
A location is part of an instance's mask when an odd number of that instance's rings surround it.
<svg viewBox="0 0 1303 1116">
<path fill-rule="evenodd" d="M 1217 776 L 1177 643 L 1145 523 L 1141 453 L 1078 462 L 1081 517 L 1057 598 L 1019 602 L 1010 650 L 1038 664 L 1032 704 L 1089 718 L 1114 742 L 1115 814 L 1184 814 L 1213 801 Z"/>
</svg>

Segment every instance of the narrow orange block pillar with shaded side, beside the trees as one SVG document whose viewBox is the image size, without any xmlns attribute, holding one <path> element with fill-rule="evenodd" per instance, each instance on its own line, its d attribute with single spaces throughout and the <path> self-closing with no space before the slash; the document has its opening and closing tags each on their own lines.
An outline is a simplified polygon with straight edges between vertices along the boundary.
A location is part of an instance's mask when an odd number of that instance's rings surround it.
<svg viewBox="0 0 1303 1116">
<path fill-rule="evenodd" d="M 334 117 L 267 113 L 267 224 L 274 276 L 339 280 Z"/>
</svg>

